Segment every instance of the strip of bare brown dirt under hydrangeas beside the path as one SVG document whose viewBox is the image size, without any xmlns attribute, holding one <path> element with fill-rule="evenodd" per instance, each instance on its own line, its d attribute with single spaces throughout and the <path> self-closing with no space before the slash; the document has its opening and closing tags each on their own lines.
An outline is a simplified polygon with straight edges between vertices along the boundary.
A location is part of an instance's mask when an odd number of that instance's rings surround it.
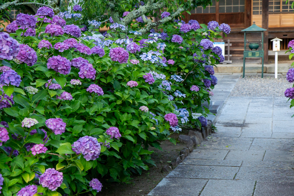
<svg viewBox="0 0 294 196">
<path fill-rule="evenodd" d="M 188 132 L 182 131 L 181 134 L 188 135 Z M 179 134 L 172 134 L 171 138 L 178 139 Z M 161 168 L 164 165 L 169 165 L 170 161 L 179 156 L 180 151 L 185 147 L 182 143 L 174 145 L 169 140 L 161 142 L 161 150 L 150 148 L 154 150 L 151 155 L 152 160 L 156 166 L 148 165 L 149 170 L 143 171 L 142 175 L 133 175 L 133 179 L 129 182 L 122 183 L 106 183 L 102 182 L 103 187 L 101 192 L 96 196 L 144 196 L 147 195 L 156 185 L 167 175 L 162 173 Z M 102 180 L 103 181 L 103 180 Z"/>
</svg>

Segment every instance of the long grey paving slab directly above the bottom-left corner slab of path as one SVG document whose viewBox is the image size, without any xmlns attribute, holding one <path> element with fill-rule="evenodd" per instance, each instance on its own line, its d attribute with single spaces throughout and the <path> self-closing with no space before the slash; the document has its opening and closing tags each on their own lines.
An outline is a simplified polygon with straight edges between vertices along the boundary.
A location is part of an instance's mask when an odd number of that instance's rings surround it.
<svg viewBox="0 0 294 196">
<path fill-rule="evenodd" d="M 233 180 L 238 170 L 230 166 L 179 165 L 166 177 Z"/>
</svg>

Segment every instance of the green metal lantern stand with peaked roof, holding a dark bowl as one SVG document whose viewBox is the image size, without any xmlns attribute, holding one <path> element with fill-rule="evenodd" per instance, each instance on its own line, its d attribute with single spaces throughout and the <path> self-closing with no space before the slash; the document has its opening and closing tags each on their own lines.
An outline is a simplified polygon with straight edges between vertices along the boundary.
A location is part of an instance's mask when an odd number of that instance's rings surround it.
<svg viewBox="0 0 294 196">
<path fill-rule="evenodd" d="M 256 26 L 253 22 L 253 25 L 242 31 L 244 31 L 243 78 L 245 77 L 245 58 L 253 57 L 262 58 L 261 78 L 263 78 L 263 31 L 266 31 L 266 29 Z"/>
</svg>

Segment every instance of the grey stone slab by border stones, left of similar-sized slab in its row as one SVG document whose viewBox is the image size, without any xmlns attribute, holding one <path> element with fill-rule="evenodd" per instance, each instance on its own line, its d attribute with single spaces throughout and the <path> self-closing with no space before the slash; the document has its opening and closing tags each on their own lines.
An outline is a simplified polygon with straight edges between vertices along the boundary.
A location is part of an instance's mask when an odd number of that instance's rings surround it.
<svg viewBox="0 0 294 196">
<path fill-rule="evenodd" d="M 223 160 L 228 150 L 196 149 L 187 157 L 188 159 L 217 159 Z"/>
</svg>

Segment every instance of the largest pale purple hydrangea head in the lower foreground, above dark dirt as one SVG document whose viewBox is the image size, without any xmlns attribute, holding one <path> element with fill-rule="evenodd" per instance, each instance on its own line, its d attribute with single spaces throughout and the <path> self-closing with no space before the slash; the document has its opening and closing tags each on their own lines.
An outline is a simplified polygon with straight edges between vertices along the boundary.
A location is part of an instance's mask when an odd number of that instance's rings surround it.
<svg viewBox="0 0 294 196">
<path fill-rule="evenodd" d="M 91 136 L 84 136 L 79 138 L 76 142 L 74 142 L 72 146 L 72 150 L 76 154 L 82 153 L 83 157 L 89 160 L 96 160 L 101 152 L 101 145 L 97 141 L 97 138 Z"/>
</svg>

